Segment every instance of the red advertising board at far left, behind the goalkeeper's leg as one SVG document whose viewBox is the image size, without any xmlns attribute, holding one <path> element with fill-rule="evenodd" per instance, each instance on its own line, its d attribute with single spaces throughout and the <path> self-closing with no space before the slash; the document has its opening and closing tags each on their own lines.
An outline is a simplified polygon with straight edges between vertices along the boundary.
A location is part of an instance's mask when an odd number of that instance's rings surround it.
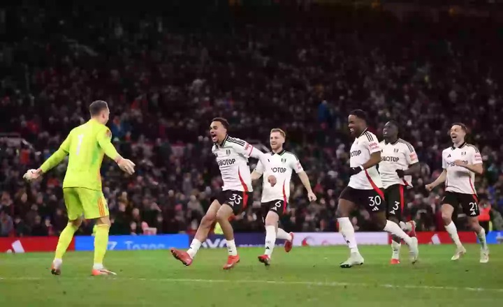
<svg viewBox="0 0 503 307">
<path fill-rule="evenodd" d="M 58 237 L 21 237 L 0 238 L 0 253 L 53 252 L 56 250 Z M 72 239 L 68 250 L 75 250 Z"/>
</svg>

